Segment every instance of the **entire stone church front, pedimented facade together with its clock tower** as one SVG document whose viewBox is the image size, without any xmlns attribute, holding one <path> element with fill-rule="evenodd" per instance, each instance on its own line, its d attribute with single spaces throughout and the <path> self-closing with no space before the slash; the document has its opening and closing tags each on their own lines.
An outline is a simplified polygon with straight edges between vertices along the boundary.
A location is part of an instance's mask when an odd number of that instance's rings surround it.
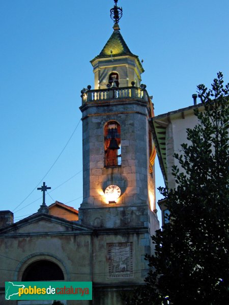
<svg viewBox="0 0 229 305">
<path fill-rule="evenodd" d="M 91 60 L 95 88 L 81 91 L 78 214 L 58 202 L 44 203 L 17 223 L 11 211 L 0 212 L 1 304 L 52 304 L 5 300 L 5 281 L 92 281 L 93 300 L 85 305 L 122 304 L 122 293 L 144 283 L 149 270 L 144 257 L 152 254 L 151 236 L 159 229 L 149 124 L 153 105 L 141 84 L 144 69 L 120 33 L 119 9 L 116 2 L 113 33 Z"/>
</svg>

